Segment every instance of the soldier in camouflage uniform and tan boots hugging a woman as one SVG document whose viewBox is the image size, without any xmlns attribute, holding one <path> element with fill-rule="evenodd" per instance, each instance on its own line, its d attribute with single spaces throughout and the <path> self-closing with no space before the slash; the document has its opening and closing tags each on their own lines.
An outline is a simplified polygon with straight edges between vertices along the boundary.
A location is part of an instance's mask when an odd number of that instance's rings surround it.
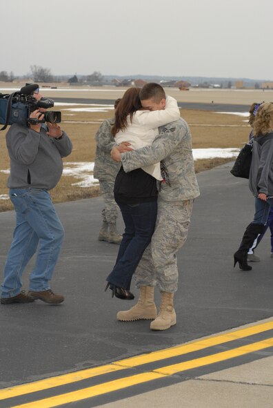
<svg viewBox="0 0 273 408">
<path fill-rule="evenodd" d="M 141 103 L 146 99 L 141 97 Z M 153 106 L 146 104 L 144 107 Z M 164 179 L 159 186 L 154 235 L 136 269 L 136 286 L 141 289 L 139 301 L 130 310 L 119 311 L 117 319 L 155 319 L 151 322 L 151 329 L 169 329 L 176 324 L 173 304 L 178 282 L 176 252 L 187 239 L 192 204 L 194 198 L 199 196 L 190 129 L 183 119 L 179 119 L 161 126 L 151 146 L 122 154 L 118 149 L 112 150 L 112 157 L 121 160 L 125 172 L 161 161 Z M 124 149 L 120 150 L 124 152 Z M 157 317 L 154 286 L 161 292 L 161 307 Z"/>
</svg>

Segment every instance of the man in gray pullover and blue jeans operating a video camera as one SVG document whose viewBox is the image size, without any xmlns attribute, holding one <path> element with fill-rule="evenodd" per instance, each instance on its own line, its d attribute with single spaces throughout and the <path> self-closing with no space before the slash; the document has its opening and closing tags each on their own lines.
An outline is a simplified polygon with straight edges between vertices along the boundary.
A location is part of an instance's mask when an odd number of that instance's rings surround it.
<svg viewBox="0 0 273 408">
<path fill-rule="evenodd" d="M 41 99 L 41 94 L 34 94 Z M 1 284 L 1 303 L 27 303 L 35 299 L 50 304 L 63 295 L 50 289 L 50 279 L 63 242 L 63 226 L 50 199 L 63 172 L 62 157 L 70 155 L 72 143 L 59 124 L 41 123 L 45 108 L 30 113 L 28 126 L 12 124 L 6 135 L 10 155 L 10 200 L 16 211 L 16 227 Z M 33 120 L 36 119 L 36 120 Z M 33 124 L 34 123 L 34 124 Z M 21 291 L 21 275 L 37 251 L 30 274 L 28 294 Z"/>
</svg>

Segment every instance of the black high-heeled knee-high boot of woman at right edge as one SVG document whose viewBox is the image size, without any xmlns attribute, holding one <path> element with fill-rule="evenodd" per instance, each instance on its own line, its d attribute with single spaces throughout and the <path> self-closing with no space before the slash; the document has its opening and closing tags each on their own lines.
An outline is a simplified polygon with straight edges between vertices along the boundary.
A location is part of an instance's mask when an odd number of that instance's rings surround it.
<svg viewBox="0 0 273 408">
<path fill-rule="evenodd" d="M 247 226 L 243 234 L 243 240 L 238 251 L 234 253 L 234 266 L 239 262 L 242 271 L 251 271 L 252 266 L 247 264 L 247 252 L 251 248 L 257 235 L 262 234 L 265 226 L 263 224 L 253 224 Z"/>
</svg>

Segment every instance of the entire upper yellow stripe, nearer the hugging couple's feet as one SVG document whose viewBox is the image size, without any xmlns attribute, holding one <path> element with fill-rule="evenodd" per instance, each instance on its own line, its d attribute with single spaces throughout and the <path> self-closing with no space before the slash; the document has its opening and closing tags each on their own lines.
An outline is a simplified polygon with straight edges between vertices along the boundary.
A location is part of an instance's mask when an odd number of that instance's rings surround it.
<svg viewBox="0 0 273 408">
<path fill-rule="evenodd" d="M 165 358 L 181 356 L 186 353 L 191 353 L 192 351 L 198 351 L 208 347 L 213 347 L 218 344 L 230 342 L 232 340 L 237 340 L 239 338 L 244 338 L 247 336 L 252 336 L 254 334 L 262 333 L 263 331 L 271 329 L 273 329 L 273 321 L 263 324 L 256 324 L 245 329 L 230 331 L 228 333 L 224 333 L 223 335 L 208 337 L 203 340 L 190 342 L 188 344 L 182 344 L 181 346 L 170 347 L 168 349 L 153 351 L 152 353 L 141 354 L 141 356 L 126 358 L 113 362 L 110 365 L 103 365 L 101 367 L 94 367 L 92 369 L 85 369 L 76 371 L 74 373 L 46 378 L 45 380 L 30 382 L 28 384 L 0 389 L 0 400 L 24 394 L 30 394 L 35 391 L 50 389 L 52 387 L 59 387 L 60 385 L 85 380 L 86 378 L 92 378 L 93 376 L 101 376 L 105 373 L 111 373 L 112 371 L 119 371 L 121 369 L 137 367 L 139 365 L 148 364 L 149 362 L 164 360 Z"/>
</svg>

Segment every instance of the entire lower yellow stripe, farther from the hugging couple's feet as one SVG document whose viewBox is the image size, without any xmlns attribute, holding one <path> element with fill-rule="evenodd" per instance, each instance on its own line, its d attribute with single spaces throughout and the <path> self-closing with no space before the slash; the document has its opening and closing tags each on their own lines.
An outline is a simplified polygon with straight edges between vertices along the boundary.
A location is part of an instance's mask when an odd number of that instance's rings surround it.
<svg viewBox="0 0 273 408">
<path fill-rule="evenodd" d="M 263 350 L 272 346 L 273 338 L 270 338 L 261 342 L 247 344 L 246 346 L 238 347 L 237 349 L 223 351 L 222 353 L 216 353 L 213 354 L 212 356 L 196 358 L 195 360 L 170 365 L 167 367 L 161 367 L 161 369 L 156 369 L 151 372 L 136 374 L 135 376 L 120 378 L 119 380 L 114 380 L 110 382 L 104 382 L 103 384 L 94 385 L 93 387 L 88 387 L 85 389 L 80 389 L 79 391 L 72 391 L 67 394 L 61 394 L 59 396 L 45 398 L 43 400 L 27 402 L 26 404 L 16 405 L 10 408 L 37 408 L 37 407 L 53 408 L 57 407 L 58 405 L 64 405 L 69 404 L 70 402 L 85 400 L 87 398 L 92 398 L 94 396 L 99 396 L 101 394 L 117 391 L 118 389 L 132 387 L 132 385 L 137 385 L 143 382 L 149 382 L 152 380 L 157 380 L 159 378 L 171 376 L 172 374 L 178 373 L 179 371 L 186 371 L 195 367 L 202 367 L 203 365 L 210 365 L 214 362 L 220 362 L 223 360 L 228 360 L 230 358 L 243 356 L 244 354 L 252 353 L 258 350 Z"/>
</svg>

